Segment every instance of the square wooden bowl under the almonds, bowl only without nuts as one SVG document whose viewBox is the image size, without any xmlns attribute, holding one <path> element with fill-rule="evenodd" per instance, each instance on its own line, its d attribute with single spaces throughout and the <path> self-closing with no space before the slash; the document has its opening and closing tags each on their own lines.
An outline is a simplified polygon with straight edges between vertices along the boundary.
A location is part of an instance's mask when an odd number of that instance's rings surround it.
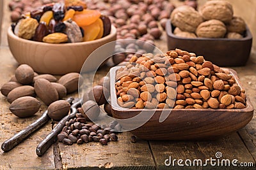
<svg viewBox="0 0 256 170">
<path fill-rule="evenodd" d="M 114 118 L 127 119 L 135 117 L 141 111 L 148 109 L 125 109 L 117 104 L 115 76 L 118 67 L 110 70 L 110 91 L 111 106 Z M 241 82 L 236 71 L 229 69 L 237 84 L 241 87 Z M 138 138 L 146 140 L 197 140 L 216 139 L 231 132 L 236 132 L 244 127 L 253 117 L 253 106 L 250 99 L 246 97 L 246 108 L 244 109 L 166 109 L 165 113 L 170 113 L 164 122 L 159 122 L 162 109 L 156 109 L 154 115 L 137 129 L 131 131 Z M 141 120 L 144 121 L 144 120 Z M 140 122 L 140 118 L 136 119 Z M 132 126 L 131 122 L 131 126 Z"/>
</svg>

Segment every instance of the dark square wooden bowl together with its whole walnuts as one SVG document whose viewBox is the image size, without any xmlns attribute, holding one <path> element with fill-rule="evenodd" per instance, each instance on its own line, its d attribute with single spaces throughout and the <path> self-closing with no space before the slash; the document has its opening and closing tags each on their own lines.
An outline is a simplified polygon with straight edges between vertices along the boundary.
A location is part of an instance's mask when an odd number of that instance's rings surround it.
<svg viewBox="0 0 256 170">
<path fill-rule="evenodd" d="M 250 57 L 252 34 L 227 1 L 207 1 L 199 11 L 180 6 L 166 22 L 168 49 L 180 48 L 218 66 L 244 66 Z"/>
</svg>

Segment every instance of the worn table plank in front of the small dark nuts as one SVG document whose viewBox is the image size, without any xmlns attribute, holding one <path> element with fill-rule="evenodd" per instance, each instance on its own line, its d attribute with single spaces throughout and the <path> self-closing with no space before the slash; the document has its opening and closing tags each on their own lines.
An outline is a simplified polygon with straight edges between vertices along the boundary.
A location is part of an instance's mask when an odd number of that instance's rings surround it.
<svg viewBox="0 0 256 170">
<path fill-rule="evenodd" d="M 131 134 L 118 134 L 118 141 L 108 145 L 88 143 L 72 146 L 59 143 L 63 168 L 76 169 L 155 169 L 147 141 L 131 143 Z"/>
</svg>

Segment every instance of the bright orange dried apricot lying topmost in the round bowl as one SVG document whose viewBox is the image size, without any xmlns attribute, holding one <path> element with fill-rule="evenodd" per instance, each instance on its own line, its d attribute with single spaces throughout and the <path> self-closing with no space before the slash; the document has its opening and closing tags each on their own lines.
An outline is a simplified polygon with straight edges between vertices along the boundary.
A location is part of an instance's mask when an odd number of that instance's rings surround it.
<svg viewBox="0 0 256 170">
<path fill-rule="evenodd" d="M 100 12 L 96 10 L 76 11 L 73 20 L 79 27 L 93 24 L 100 17 Z"/>
</svg>

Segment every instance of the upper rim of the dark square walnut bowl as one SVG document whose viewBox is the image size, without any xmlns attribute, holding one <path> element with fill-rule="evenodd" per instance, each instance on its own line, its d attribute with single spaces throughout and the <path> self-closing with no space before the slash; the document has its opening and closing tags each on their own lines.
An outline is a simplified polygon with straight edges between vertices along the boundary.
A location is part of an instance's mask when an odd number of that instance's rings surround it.
<svg viewBox="0 0 256 170">
<path fill-rule="evenodd" d="M 169 37 L 173 37 L 176 39 L 184 39 L 184 40 L 198 40 L 198 41 L 246 41 L 252 39 L 252 32 L 250 31 L 248 25 L 246 24 L 246 36 L 241 39 L 231 39 L 231 38 L 184 38 L 180 36 L 176 36 L 173 34 L 173 27 L 172 20 L 168 19 L 166 22 L 166 34 Z"/>
</svg>

